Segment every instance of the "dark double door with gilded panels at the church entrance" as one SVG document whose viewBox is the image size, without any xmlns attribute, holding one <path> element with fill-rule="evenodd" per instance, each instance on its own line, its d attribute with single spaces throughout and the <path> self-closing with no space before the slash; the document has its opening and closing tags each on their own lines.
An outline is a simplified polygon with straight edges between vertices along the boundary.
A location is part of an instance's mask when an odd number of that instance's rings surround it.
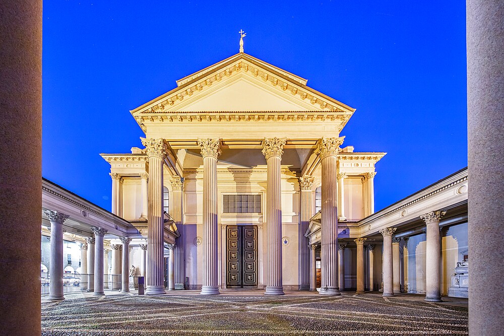
<svg viewBox="0 0 504 336">
<path fill-rule="evenodd" d="M 227 226 L 226 287 L 257 288 L 257 227 Z"/>
</svg>

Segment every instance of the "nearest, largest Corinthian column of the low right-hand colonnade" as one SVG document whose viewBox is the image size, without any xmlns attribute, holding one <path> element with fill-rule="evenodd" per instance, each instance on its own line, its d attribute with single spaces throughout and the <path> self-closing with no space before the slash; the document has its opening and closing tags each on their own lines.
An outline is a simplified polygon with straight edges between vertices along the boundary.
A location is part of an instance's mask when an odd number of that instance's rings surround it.
<svg viewBox="0 0 504 336">
<path fill-rule="evenodd" d="M 432 211 L 420 218 L 427 224 L 427 250 L 426 250 L 426 267 L 425 280 L 427 291 L 425 301 L 440 302 L 441 293 L 439 291 L 439 266 L 440 266 L 440 249 L 439 249 L 439 221 L 445 216 L 446 211 Z"/>
</svg>

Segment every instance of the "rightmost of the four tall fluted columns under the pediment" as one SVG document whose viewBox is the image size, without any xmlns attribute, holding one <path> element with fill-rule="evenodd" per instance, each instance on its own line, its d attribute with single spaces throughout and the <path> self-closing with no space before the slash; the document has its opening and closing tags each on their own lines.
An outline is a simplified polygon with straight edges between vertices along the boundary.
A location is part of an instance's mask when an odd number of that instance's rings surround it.
<svg viewBox="0 0 504 336">
<path fill-rule="evenodd" d="M 336 164 L 344 137 L 322 138 L 317 154 L 322 164 L 321 290 L 340 295 L 338 286 L 338 176 Z"/>
</svg>

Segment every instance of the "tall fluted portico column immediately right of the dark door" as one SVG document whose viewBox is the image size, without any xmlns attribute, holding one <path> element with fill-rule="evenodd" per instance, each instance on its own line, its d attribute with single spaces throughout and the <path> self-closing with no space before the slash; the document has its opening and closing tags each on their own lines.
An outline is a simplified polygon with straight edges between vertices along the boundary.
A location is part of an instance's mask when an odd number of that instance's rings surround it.
<svg viewBox="0 0 504 336">
<path fill-rule="evenodd" d="M 284 295 L 282 284 L 282 186 L 281 166 L 285 139 L 264 139 L 268 165 L 266 187 L 266 239 L 268 278 L 266 295 Z"/>
</svg>

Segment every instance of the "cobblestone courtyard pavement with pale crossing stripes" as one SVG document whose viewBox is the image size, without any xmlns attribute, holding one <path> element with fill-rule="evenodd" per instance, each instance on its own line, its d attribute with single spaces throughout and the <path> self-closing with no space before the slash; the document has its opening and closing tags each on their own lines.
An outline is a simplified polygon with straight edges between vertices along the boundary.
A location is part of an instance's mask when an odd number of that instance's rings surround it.
<svg viewBox="0 0 504 336">
<path fill-rule="evenodd" d="M 467 308 L 377 294 L 75 296 L 42 303 L 42 335 L 467 335 Z"/>
</svg>

